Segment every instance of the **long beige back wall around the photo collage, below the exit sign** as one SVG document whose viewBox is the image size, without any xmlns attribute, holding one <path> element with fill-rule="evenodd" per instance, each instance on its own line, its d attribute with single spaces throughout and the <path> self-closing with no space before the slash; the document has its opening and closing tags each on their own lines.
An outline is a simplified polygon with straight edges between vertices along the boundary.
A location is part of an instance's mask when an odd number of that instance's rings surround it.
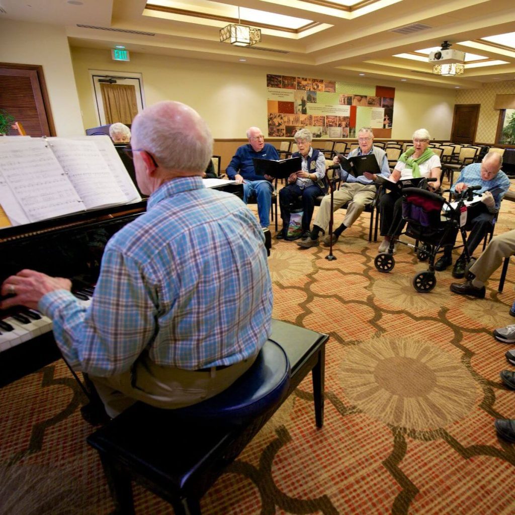
<svg viewBox="0 0 515 515">
<path fill-rule="evenodd" d="M 72 47 L 71 51 L 84 128 L 97 125 L 88 70 L 142 73 L 147 105 L 164 99 L 184 102 L 207 120 L 215 138 L 242 138 L 252 125 L 266 133 L 266 74 L 298 74 L 244 63 L 137 53 L 131 53 L 130 62 L 124 63 L 113 61 L 108 50 Z M 305 73 L 310 77 L 314 74 Z M 377 84 L 376 80 L 362 82 Z M 421 127 L 427 128 L 434 139 L 450 137 L 454 90 L 400 82 L 381 81 L 380 85 L 396 88 L 392 138 L 409 139 Z"/>
</svg>

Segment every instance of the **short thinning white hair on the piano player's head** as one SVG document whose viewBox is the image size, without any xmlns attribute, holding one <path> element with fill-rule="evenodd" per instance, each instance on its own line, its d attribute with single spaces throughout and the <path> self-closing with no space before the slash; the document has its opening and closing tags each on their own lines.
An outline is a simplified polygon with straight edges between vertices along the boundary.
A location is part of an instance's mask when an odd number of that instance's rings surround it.
<svg viewBox="0 0 515 515">
<path fill-rule="evenodd" d="M 132 123 L 139 147 L 169 170 L 203 172 L 213 155 L 213 136 L 190 106 L 165 100 L 145 108 Z"/>
</svg>

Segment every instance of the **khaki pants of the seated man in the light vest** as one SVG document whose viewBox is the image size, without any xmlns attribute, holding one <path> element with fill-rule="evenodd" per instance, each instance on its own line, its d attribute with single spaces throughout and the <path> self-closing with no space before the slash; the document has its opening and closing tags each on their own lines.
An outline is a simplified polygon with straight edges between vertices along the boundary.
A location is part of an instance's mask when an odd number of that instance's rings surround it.
<svg viewBox="0 0 515 515">
<path fill-rule="evenodd" d="M 359 184 L 358 182 L 346 182 L 339 190 L 333 193 L 333 211 L 341 208 L 346 202 L 350 202 L 345 214 L 344 224 L 350 227 L 357 217 L 363 213 L 365 206 L 371 204 L 375 197 L 375 186 L 373 184 Z M 331 219 L 331 195 L 325 195 L 322 199 L 314 225 L 324 231 L 329 226 Z"/>
</svg>

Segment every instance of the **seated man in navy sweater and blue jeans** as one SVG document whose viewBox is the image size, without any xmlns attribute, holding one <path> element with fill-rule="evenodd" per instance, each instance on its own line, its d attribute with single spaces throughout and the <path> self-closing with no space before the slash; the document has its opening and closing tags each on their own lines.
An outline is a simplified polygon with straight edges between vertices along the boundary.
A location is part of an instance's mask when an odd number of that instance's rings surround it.
<svg viewBox="0 0 515 515">
<path fill-rule="evenodd" d="M 249 142 L 236 150 L 226 168 L 226 174 L 229 179 L 235 180 L 238 184 L 243 182 L 243 201 L 245 203 L 252 194 L 255 195 L 261 227 L 268 228 L 273 177 L 256 175 L 252 159 L 279 159 L 279 154 L 272 145 L 265 143 L 265 136 L 258 127 L 250 127 L 247 131 L 247 138 Z"/>
</svg>

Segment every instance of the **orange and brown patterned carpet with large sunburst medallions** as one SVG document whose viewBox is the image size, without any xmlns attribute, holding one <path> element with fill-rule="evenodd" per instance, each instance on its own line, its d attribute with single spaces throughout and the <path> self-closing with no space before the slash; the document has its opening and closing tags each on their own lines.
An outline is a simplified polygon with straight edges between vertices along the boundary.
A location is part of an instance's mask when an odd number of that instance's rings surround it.
<svg viewBox="0 0 515 515">
<path fill-rule="evenodd" d="M 515 228 L 513 211 L 504 202 L 496 233 Z M 493 427 L 515 418 L 499 379 L 510 346 L 491 336 L 513 322 L 515 267 L 502 294 L 496 272 L 484 300 L 451 294 L 450 270 L 420 294 L 411 280 L 427 265 L 400 246 L 393 270 L 378 272 L 368 224 L 363 214 L 344 233 L 336 261 L 323 246 L 273 242 L 274 318 L 331 336 L 324 426 L 308 376 L 203 497 L 205 515 L 515 513 L 515 449 Z M 62 363 L 0 390 L 0 513 L 112 510 L 81 402 Z M 137 513 L 173 513 L 135 492 Z"/>
</svg>

